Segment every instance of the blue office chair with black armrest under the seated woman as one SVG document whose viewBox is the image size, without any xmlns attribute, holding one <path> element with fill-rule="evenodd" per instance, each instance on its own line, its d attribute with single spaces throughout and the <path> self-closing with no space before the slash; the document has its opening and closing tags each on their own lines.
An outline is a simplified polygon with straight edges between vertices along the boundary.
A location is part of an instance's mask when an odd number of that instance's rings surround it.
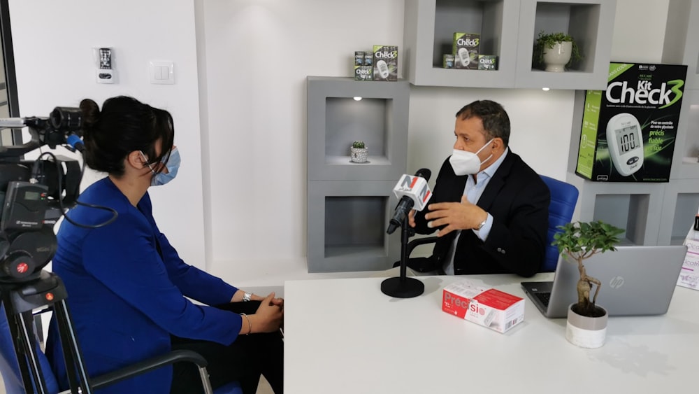
<svg viewBox="0 0 699 394">
<path fill-rule="evenodd" d="M 46 387 L 49 394 L 59 393 L 59 386 L 54 376 L 51 366 L 46 358 L 45 354 L 41 349 L 37 349 L 36 354 L 38 356 L 38 362 L 41 366 L 41 372 L 43 373 L 44 380 L 46 382 Z M 101 375 L 99 377 L 91 377 L 90 384 L 92 388 L 99 388 L 114 384 L 117 381 L 122 381 L 124 379 L 129 379 L 137 374 L 142 374 L 150 370 L 154 370 L 164 365 L 170 365 L 172 363 L 187 361 L 195 363 L 199 369 L 202 379 L 202 384 L 208 384 L 208 377 L 206 375 L 206 360 L 194 351 L 171 351 L 163 356 L 158 356 L 150 358 L 148 360 L 136 363 L 129 367 L 124 367 L 121 370 L 110 372 L 108 374 Z M 7 316 L 5 314 L 4 305 L 0 306 L 0 373 L 2 374 L 3 383 L 5 384 L 5 391 L 7 394 L 24 394 L 24 382 L 22 381 L 22 375 L 20 374 L 20 367 L 17 364 L 17 356 L 15 353 L 15 345 L 10 337 L 10 327 L 8 325 Z M 217 388 L 213 391 L 214 394 L 243 394 L 243 389 L 240 388 L 238 382 L 231 382 L 225 386 Z"/>
</svg>

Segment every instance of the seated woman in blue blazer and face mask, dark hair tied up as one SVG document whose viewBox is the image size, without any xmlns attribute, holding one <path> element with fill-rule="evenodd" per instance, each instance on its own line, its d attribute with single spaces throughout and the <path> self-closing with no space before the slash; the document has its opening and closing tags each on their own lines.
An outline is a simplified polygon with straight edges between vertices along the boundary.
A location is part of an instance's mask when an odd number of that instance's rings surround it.
<svg viewBox="0 0 699 394">
<path fill-rule="evenodd" d="M 148 188 L 174 178 L 180 163 L 170 113 L 131 97 L 107 99 L 101 111 L 85 99 L 80 108 L 85 163 L 108 176 L 82 192 L 67 214 L 53 270 L 68 291 L 88 374 L 193 349 L 207 358 L 214 387 L 240 381 L 245 393 L 254 393 L 264 374 L 282 393 L 283 300 L 245 293 L 185 264 L 152 216 Z M 55 322 L 46 353 L 67 388 Z M 201 390 L 196 368 L 177 363 L 174 372 L 163 367 L 99 393 Z"/>
</svg>

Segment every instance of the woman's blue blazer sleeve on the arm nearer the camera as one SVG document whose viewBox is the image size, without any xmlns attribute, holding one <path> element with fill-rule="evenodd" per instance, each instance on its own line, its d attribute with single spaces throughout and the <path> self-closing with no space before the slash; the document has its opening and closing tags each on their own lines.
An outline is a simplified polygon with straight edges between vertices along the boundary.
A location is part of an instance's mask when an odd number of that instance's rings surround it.
<svg viewBox="0 0 699 394">
<path fill-rule="evenodd" d="M 241 316 L 183 297 L 154 241 L 150 223 L 134 208 L 87 234 L 82 262 L 95 279 L 171 334 L 221 344 L 235 341 Z"/>
</svg>

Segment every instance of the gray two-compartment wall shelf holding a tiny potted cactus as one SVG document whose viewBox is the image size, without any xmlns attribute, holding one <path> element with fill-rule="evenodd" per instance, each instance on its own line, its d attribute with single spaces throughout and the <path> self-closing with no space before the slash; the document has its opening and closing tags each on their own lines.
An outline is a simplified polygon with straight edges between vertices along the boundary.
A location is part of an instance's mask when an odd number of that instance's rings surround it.
<svg viewBox="0 0 699 394">
<path fill-rule="evenodd" d="M 400 258 L 385 229 L 406 172 L 410 86 L 309 76 L 307 89 L 308 272 L 388 269 Z M 368 162 L 349 160 L 355 140 Z"/>
</svg>

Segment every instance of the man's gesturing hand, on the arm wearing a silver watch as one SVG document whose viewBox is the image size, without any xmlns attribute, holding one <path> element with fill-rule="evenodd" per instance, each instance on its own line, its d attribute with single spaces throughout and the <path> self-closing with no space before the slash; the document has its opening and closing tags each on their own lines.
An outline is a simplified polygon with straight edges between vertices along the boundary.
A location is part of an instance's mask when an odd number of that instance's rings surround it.
<svg viewBox="0 0 699 394">
<path fill-rule="evenodd" d="M 468 230 L 478 226 L 488 218 L 488 213 L 480 206 L 471 204 L 466 196 L 461 196 L 461 202 L 438 202 L 427 206 L 430 212 L 426 213 L 427 227 L 444 227 L 437 233 L 443 237 L 454 230 Z M 415 220 L 413 220 L 415 223 Z"/>
</svg>

